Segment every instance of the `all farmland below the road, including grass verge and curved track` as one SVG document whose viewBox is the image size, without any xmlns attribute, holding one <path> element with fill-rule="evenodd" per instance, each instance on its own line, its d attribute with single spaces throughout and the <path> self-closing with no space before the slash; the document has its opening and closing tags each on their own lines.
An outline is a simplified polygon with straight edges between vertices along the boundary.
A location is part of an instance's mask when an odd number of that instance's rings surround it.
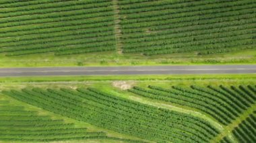
<svg viewBox="0 0 256 143">
<path fill-rule="evenodd" d="M 254 142 L 255 79 L 1 77 L 0 141 Z"/>
</svg>

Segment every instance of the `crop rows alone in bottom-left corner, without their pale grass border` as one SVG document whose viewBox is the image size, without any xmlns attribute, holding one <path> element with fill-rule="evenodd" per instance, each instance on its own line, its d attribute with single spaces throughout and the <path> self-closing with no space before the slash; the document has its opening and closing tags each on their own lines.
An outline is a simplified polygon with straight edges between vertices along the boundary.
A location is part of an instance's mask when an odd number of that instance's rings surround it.
<svg viewBox="0 0 256 143">
<path fill-rule="evenodd" d="M 1 141 L 57 141 L 90 138 L 106 138 L 104 132 L 88 132 L 87 128 L 75 128 L 74 124 L 38 115 L 13 105 L 0 105 Z M 6 108 L 6 109 L 4 109 Z"/>
</svg>

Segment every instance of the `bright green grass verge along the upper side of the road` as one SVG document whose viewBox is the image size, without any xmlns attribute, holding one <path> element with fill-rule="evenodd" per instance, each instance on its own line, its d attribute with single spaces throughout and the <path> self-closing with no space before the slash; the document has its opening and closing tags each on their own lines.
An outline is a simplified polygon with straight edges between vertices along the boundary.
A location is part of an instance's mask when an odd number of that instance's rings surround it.
<svg viewBox="0 0 256 143">
<path fill-rule="evenodd" d="M 144 56 L 117 52 L 55 56 L 53 53 L 25 56 L 0 54 L 0 67 L 41 66 L 135 66 L 172 64 L 256 64 L 256 50 L 198 56 L 194 52 Z"/>
</svg>

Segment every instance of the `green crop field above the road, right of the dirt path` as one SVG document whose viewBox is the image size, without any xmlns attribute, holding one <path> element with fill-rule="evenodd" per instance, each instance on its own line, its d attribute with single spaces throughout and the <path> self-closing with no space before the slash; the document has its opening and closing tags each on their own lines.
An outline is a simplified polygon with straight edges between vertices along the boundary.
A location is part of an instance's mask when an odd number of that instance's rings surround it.
<svg viewBox="0 0 256 143">
<path fill-rule="evenodd" d="M 119 1 L 123 52 L 216 54 L 255 48 L 251 0 Z"/>
</svg>

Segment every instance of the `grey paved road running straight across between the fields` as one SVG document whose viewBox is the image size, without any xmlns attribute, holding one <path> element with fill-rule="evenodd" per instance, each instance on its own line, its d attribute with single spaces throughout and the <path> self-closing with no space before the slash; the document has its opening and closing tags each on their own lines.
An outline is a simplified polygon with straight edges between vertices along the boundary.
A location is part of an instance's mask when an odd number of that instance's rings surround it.
<svg viewBox="0 0 256 143">
<path fill-rule="evenodd" d="M 256 73 L 256 65 L 0 68 L 0 77 L 57 75 L 185 75 Z"/>
</svg>

